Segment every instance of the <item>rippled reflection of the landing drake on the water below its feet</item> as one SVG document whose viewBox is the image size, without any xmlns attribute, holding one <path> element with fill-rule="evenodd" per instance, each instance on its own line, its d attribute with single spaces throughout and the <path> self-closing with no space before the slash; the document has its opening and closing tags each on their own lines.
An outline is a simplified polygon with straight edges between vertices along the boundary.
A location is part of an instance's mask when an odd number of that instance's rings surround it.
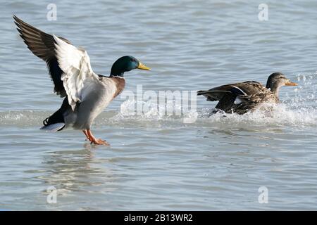
<svg viewBox="0 0 317 225">
<path fill-rule="evenodd" d="M 58 195 L 68 195 L 74 191 L 92 191 L 97 186 L 113 183 L 111 169 L 101 162 L 108 160 L 94 158 L 95 146 L 85 144 L 82 150 L 60 150 L 49 153 L 44 158 L 46 174 L 39 176 L 46 186 L 54 186 Z M 113 191 L 113 188 L 97 188 L 100 191 Z"/>
</svg>

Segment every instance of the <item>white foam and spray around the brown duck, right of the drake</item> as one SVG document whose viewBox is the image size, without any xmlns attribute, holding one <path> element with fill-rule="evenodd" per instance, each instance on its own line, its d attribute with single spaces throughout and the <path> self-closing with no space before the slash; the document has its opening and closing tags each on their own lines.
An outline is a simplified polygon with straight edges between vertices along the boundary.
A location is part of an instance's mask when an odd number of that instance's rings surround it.
<svg viewBox="0 0 317 225">
<path fill-rule="evenodd" d="M 313 75 L 297 75 L 299 86 L 296 89 L 290 87 L 282 87 L 280 98 L 282 103 L 265 104 L 259 110 L 244 115 L 227 114 L 227 113 L 212 113 L 213 108 L 199 108 L 182 112 L 182 115 L 166 115 L 164 108 L 166 105 L 157 105 L 151 102 L 125 101 L 120 106 L 120 112 L 112 118 L 112 120 L 136 120 L 136 121 L 175 121 L 183 120 L 185 123 L 197 121 L 207 124 L 223 123 L 236 126 L 313 126 L 317 125 L 317 99 L 316 99 L 316 78 L 317 74 Z M 144 110 L 143 113 L 136 113 L 135 105 L 147 105 L 149 110 Z M 175 109 L 181 109 L 182 105 L 173 104 Z M 195 120 L 197 118 L 197 120 Z M 187 120 L 189 119 L 189 120 Z"/>
</svg>

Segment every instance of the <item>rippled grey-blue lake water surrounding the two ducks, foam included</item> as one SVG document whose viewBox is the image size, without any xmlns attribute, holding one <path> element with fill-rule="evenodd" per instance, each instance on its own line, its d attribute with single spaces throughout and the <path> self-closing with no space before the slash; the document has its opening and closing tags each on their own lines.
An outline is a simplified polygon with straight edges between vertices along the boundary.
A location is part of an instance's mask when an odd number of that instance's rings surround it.
<svg viewBox="0 0 317 225">
<path fill-rule="evenodd" d="M 0 4 L 1 210 L 317 209 L 317 2 L 54 1 L 49 21 L 50 3 Z M 199 96 L 192 123 L 155 110 L 127 115 L 135 104 L 118 96 L 92 129 L 111 146 L 92 146 L 81 131 L 39 130 L 62 99 L 13 13 L 83 46 L 99 74 L 125 55 L 152 68 L 126 73 L 126 91 L 265 83 L 272 72 L 299 86 L 282 87 L 269 116 L 208 117 L 215 103 Z M 46 201 L 50 187 L 55 204 Z"/>
</svg>

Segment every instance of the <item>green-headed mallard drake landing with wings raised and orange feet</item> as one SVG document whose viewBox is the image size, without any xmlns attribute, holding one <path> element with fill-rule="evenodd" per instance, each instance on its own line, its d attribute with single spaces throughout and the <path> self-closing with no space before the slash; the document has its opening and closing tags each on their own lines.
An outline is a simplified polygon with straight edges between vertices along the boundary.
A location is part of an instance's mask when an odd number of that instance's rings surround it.
<svg viewBox="0 0 317 225">
<path fill-rule="evenodd" d="M 43 121 L 41 129 L 61 131 L 73 127 L 81 129 L 91 143 L 108 145 L 93 136 L 92 122 L 123 91 L 124 72 L 150 68 L 135 57 L 123 56 L 113 63 L 110 76 L 97 75 L 85 49 L 73 46 L 63 37 L 46 34 L 15 15 L 13 18 L 28 49 L 46 62 L 54 92 L 64 98 L 61 108 Z"/>
</svg>

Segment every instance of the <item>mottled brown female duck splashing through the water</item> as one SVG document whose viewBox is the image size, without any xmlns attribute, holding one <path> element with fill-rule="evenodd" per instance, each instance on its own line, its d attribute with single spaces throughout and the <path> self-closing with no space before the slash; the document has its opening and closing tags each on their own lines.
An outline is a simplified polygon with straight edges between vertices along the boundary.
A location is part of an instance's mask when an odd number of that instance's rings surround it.
<svg viewBox="0 0 317 225">
<path fill-rule="evenodd" d="M 297 86 L 281 72 L 274 72 L 268 77 L 266 86 L 259 82 L 242 82 L 217 86 L 208 91 L 197 91 L 207 101 L 219 101 L 217 110 L 225 113 L 244 114 L 258 108 L 261 103 L 279 103 L 278 91 L 281 86 Z"/>
</svg>

